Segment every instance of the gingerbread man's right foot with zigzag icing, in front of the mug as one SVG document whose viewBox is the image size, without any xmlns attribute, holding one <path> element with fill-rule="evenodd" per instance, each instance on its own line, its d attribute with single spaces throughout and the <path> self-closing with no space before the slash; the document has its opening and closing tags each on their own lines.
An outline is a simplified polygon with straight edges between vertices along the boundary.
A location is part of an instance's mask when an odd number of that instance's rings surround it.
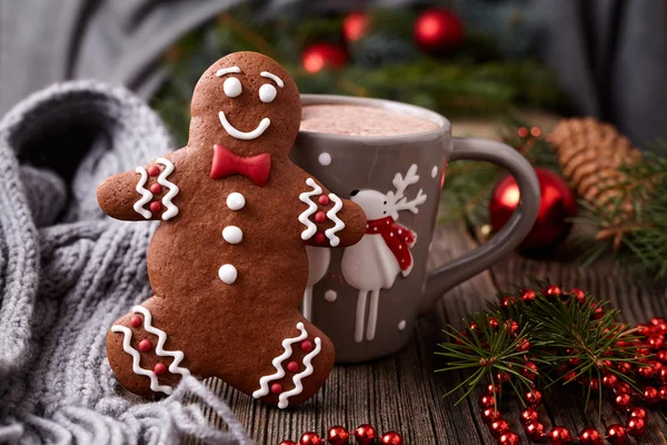
<svg viewBox="0 0 667 445">
<path fill-rule="evenodd" d="M 250 392 L 252 397 L 279 408 L 312 397 L 325 384 L 336 358 L 331 340 L 308 320 L 299 318 L 289 326 L 278 327 L 282 333 L 279 343 L 261 348 L 272 350 L 275 355 L 261 358 L 266 365 L 256 376 Z M 249 370 L 248 374 L 253 373 Z"/>
</svg>

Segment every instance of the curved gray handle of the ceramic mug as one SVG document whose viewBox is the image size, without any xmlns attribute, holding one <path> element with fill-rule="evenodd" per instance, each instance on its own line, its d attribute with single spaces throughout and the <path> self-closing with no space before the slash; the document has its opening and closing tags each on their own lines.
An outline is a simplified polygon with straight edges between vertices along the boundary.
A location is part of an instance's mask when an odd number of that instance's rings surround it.
<svg viewBox="0 0 667 445">
<path fill-rule="evenodd" d="M 488 243 L 466 253 L 435 270 L 427 279 L 420 315 L 447 290 L 487 269 L 514 250 L 528 235 L 539 211 L 540 190 L 532 166 L 514 148 L 489 139 L 454 138 L 450 161 L 467 159 L 496 164 L 517 181 L 520 201 L 516 210 Z"/>
</svg>

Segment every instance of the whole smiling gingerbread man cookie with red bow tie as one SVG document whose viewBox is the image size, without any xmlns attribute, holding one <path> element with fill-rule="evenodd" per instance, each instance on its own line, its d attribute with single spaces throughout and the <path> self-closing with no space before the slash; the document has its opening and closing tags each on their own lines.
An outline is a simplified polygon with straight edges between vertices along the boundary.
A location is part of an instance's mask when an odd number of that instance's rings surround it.
<svg viewBox="0 0 667 445">
<path fill-rule="evenodd" d="M 187 147 L 98 188 L 107 215 L 162 221 L 148 250 L 155 295 L 111 326 L 109 363 L 140 395 L 216 376 L 281 408 L 298 404 L 335 358 L 298 310 L 306 246 L 357 243 L 365 214 L 289 160 L 301 102 L 276 61 L 255 52 L 218 60 L 191 113 Z"/>
</svg>

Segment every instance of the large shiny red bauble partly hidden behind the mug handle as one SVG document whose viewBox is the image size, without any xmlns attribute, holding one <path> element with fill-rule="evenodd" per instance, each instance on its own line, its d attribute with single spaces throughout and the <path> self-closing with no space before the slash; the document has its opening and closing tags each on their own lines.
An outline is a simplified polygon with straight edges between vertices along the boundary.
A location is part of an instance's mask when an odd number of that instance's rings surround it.
<svg viewBox="0 0 667 445">
<path fill-rule="evenodd" d="M 555 247 L 569 233 L 567 221 L 577 214 L 577 200 L 565 180 L 552 171 L 536 168 L 541 204 L 532 229 L 519 245 L 519 250 L 537 253 Z M 491 228 L 498 231 L 507 224 L 520 200 L 517 181 L 507 176 L 494 189 L 489 205 Z"/>
</svg>

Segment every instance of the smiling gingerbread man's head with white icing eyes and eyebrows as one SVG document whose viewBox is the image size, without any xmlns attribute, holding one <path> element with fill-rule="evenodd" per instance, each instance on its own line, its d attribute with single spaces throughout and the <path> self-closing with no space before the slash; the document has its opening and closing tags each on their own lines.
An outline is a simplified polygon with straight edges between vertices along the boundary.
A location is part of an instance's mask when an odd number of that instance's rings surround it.
<svg viewBox="0 0 667 445">
<path fill-rule="evenodd" d="M 220 144 L 240 156 L 287 155 L 299 132 L 297 85 L 273 59 L 233 52 L 201 76 L 191 106 L 188 146 Z"/>
</svg>

